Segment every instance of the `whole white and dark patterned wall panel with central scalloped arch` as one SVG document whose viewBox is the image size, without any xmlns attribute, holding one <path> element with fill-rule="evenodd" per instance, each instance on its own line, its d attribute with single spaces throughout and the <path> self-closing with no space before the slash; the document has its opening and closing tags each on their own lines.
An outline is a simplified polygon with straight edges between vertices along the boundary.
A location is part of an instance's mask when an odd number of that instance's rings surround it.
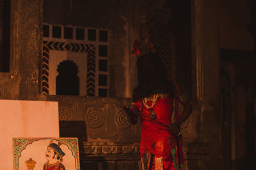
<svg viewBox="0 0 256 170">
<path fill-rule="evenodd" d="M 42 93 L 108 96 L 108 30 L 44 24 Z"/>
</svg>

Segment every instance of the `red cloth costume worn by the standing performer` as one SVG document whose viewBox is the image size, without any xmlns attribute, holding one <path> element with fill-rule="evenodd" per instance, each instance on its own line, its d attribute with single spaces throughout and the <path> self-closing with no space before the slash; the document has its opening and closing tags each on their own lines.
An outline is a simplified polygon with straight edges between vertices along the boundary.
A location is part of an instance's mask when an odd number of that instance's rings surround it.
<svg viewBox="0 0 256 170">
<path fill-rule="evenodd" d="M 164 125 L 170 126 L 173 112 L 173 99 L 158 97 L 154 107 L 150 108 L 152 104 L 152 101 L 148 101 L 147 107 L 143 104 L 142 100 L 139 100 L 135 102 L 135 106 L 132 106 L 132 110 L 141 111 L 143 115 L 150 117 L 150 112 L 153 109 L 156 112 L 155 120 Z M 175 137 L 170 132 L 170 129 L 161 124 L 157 124 L 154 120 L 147 117 L 141 116 L 141 157 L 143 158 L 143 155 L 148 150 L 152 155 L 154 155 L 152 169 L 174 170 L 175 164 L 178 164 L 176 154 L 177 141 Z M 174 157 L 171 150 L 175 150 Z M 157 158 L 161 158 L 160 165 L 159 161 L 156 163 Z M 175 161 L 173 161 L 173 159 L 175 159 Z"/>
</svg>

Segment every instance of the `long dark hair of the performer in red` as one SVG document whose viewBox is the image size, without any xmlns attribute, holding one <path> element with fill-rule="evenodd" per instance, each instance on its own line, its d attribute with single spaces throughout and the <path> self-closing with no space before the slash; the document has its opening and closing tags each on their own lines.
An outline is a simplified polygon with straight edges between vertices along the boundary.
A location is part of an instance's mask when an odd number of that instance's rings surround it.
<svg viewBox="0 0 256 170">
<path fill-rule="evenodd" d="M 156 93 L 173 96 L 174 85 L 168 80 L 166 69 L 156 53 L 141 55 L 136 64 L 139 84 L 133 90 L 133 102 Z"/>
</svg>

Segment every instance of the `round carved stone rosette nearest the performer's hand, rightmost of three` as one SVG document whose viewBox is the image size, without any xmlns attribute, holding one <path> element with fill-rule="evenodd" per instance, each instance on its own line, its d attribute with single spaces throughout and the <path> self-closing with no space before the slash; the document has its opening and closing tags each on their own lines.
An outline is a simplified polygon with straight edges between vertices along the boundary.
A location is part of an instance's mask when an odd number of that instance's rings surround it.
<svg viewBox="0 0 256 170">
<path fill-rule="evenodd" d="M 118 129 L 127 129 L 131 127 L 131 123 L 124 110 L 117 110 L 115 115 L 115 125 Z"/>
</svg>

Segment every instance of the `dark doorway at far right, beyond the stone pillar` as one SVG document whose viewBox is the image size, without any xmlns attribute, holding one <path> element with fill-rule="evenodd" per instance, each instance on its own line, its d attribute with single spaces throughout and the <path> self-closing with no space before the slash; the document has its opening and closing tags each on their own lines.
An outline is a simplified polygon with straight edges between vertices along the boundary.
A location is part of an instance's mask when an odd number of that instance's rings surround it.
<svg viewBox="0 0 256 170">
<path fill-rule="evenodd" d="M 255 53 L 221 49 L 220 56 L 223 167 L 250 169 L 255 160 Z"/>
</svg>

